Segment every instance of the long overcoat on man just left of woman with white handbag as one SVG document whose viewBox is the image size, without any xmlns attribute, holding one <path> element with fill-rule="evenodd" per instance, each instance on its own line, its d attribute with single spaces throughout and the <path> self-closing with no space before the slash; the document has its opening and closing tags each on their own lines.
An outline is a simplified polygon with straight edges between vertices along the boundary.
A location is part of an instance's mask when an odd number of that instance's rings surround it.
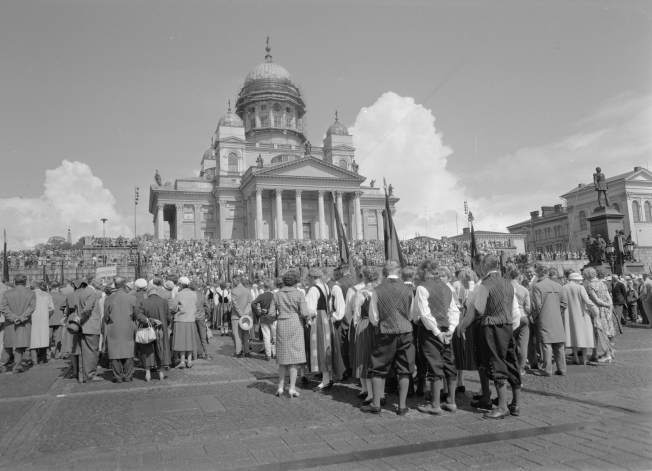
<svg viewBox="0 0 652 471">
<path fill-rule="evenodd" d="M 134 357 L 137 304 L 136 297 L 124 289 L 104 301 L 104 331 L 111 360 Z"/>
</svg>

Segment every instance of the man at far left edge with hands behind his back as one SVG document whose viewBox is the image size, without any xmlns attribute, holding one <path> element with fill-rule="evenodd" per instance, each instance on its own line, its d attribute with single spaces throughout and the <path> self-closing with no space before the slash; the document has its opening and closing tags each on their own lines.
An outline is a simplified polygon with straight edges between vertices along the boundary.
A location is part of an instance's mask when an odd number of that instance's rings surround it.
<svg viewBox="0 0 652 471">
<path fill-rule="evenodd" d="M 0 312 L 5 317 L 5 338 L 2 356 L 0 357 L 0 372 L 7 371 L 14 350 L 13 373 L 23 371 L 23 354 L 29 348 L 32 333 L 31 317 L 36 308 L 36 294 L 27 289 L 27 277 L 16 275 L 16 287 L 4 292 L 0 301 Z"/>
</svg>

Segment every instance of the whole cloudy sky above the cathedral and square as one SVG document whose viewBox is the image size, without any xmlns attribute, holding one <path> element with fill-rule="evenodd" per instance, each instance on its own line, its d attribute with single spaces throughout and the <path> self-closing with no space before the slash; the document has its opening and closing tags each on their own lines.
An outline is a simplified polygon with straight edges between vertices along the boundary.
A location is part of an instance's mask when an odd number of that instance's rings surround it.
<svg viewBox="0 0 652 471">
<path fill-rule="evenodd" d="M 0 4 L 0 229 L 152 232 L 147 189 L 194 175 L 270 36 L 309 139 L 339 111 L 402 236 L 505 230 L 652 160 L 652 8 L 640 1 Z M 427 206 L 427 221 L 425 218 Z"/>
</svg>

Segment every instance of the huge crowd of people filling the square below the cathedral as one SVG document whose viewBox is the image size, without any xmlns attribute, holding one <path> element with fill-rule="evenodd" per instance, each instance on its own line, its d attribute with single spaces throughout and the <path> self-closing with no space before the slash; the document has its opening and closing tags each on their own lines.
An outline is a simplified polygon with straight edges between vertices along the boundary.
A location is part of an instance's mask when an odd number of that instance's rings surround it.
<svg viewBox="0 0 652 471">
<path fill-rule="evenodd" d="M 410 396 L 427 396 L 418 410 L 441 415 L 456 410 L 455 397 L 466 389 L 464 371 L 477 370 L 482 390 L 471 405 L 496 419 L 520 414 L 523 375 L 565 375 L 567 350 L 568 361 L 579 365 L 611 363 L 620 326 L 649 324 L 652 315 L 647 275 L 621 279 L 601 268 L 559 274 L 536 263 L 502 270 L 491 253 L 458 267 L 441 260 L 462 263 L 468 256 L 413 244 L 407 256 L 426 255 L 416 268 L 395 260 L 381 268 L 362 256 L 367 263 L 352 272 L 339 264 L 330 277 L 313 265 L 302 278 L 303 257 L 330 257 L 329 244 L 279 241 L 269 253 L 264 244 L 240 242 L 156 241 L 146 250 L 175 271 L 201 256 L 210 260 L 206 250 L 223 249 L 236 259 L 258 250 L 259 263 L 281 252 L 296 265 L 276 278 L 234 273 L 229 282 L 159 271 L 129 282 L 90 275 L 63 286 L 39 280 L 28 286 L 17 275 L 13 286 L 0 284 L 0 371 L 19 373 L 66 357 L 81 383 L 101 380 L 98 364 L 110 364 L 113 381 L 122 382 L 133 380 L 136 360 L 146 381 L 153 374 L 164 380 L 166 369 L 209 359 L 213 332 L 231 337 L 235 357 L 252 355 L 258 332 L 260 358 L 279 365 L 278 396 L 285 394 L 287 373 L 290 397 L 300 395 L 297 382 L 305 388 L 317 378 L 314 391 L 324 394 L 351 378 L 359 381 L 363 412 L 380 413 L 386 391 L 396 391 L 399 415 L 407 413 Z M 352 244 L 363 255 L 370 246 Z M 157 251 L 161 247 L 174 255 Z M 433 253 L 437 257 L 428 258 Z"/>
</svg>

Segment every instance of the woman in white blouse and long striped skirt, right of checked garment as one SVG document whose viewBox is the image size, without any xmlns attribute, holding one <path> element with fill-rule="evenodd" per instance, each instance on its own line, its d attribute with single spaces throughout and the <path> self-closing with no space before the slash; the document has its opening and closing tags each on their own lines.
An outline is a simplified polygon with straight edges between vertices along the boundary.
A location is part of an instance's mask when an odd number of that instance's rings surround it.
<svg viewBox="0 0 652 471">
<path fill-rule="evenodd" d="M 328 297 L 330 292 L 321 281 L 322 271 L 311 268 L 308 280 L 311 287 L 306 294 L 306 304 L 310 314 L 310 371 L 321 372 L 322 382 L 315 388 L 316 392 L 329 390 L 333 387 L 332 375 L 341 377 L 344 373 L 344 364 L 338 342 L 334 342 L 335 331 L 331 317 Z"/>
</svg>

